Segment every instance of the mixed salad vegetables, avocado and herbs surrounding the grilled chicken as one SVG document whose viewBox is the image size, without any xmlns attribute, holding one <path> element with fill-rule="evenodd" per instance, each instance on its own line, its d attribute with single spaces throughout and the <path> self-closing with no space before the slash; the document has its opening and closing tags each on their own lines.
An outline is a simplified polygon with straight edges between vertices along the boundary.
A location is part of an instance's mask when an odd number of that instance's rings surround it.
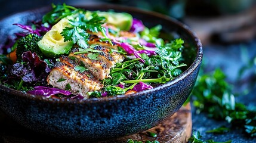
<svg viewBox="0 0 256 143">
<path fill-rule="evenodd" d="M 70 52 L 73 55 L 69 59 L 75 63 L 73 70 L 81 74 L 91 72 L 91 69 L 78 61 L 76 55 L 84 54 L 88 60 L 103 61 L 102 55 L 106 53 L 99 50 L 103 45 L 90 43 L 91 36 L 96 36 L 101 43 L 109 44 L 109 54 L 117 52 L 123 56 L 122 60 L 124 58 L 122 63 L 115 62 L 110 67 L 103 80 L 97 79 L 103 87 L 88 92 L 91 98 L 152 89 L 174 79 L 183 72 L 182 67 L 187 66 L 182 57 L 183 39 L 167 40 L 159 37 L 161 25 L 148 28 L 143 21 L 128 13 L 87 11 L 66 4 L 53 4 L 52 7 L 53 10 L 45 14 L 41 21 L 33 21 L 32 25 L 14 24 L 24 31 L 16 33 L 16 40 L 8 42 L 7 50 L 4 49 L 0 56 L 3 71 L 0 82 L 5 83 L 5 86 L 36 95 L 49 93 L 46 96 L 49 98 L 73 97 L 61 95 L 65 92 L 48 85 L 47 77 L 63 59 L 62 56 Z M 91 79 L 90 76 L 88 78 Z M 73 87 L 66 77 L 58 77 L 55 83 L 65 84 L 64 89 L 60 89 L 64 91 L 70 92 Z"/>
</svg>

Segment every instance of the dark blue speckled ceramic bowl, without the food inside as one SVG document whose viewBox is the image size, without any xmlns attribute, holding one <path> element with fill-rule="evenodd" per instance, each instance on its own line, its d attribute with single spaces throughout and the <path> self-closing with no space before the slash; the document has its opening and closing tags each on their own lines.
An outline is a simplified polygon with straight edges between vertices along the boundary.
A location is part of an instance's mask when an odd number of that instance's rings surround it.
<svg viewBox="0 0 256 143">
<path fill-rule="evenodd" d="M 57 138 L 98 141 L 131 135 L 158 125 L 172 116 L 190 95 L 202 61 L 202 45 L 184 24 L 167 16 L 117 5 L 84 6 L 87 10 L 125 11 L 148 27 L 161 24 L 163 32 L 186 42 L 185 71 L 164 85 L 132 95 L 88 100 L 58 100 L 24 94 L 0 85 L 0 108 L 17 123 Z M 25 11 L 0 21 L 0 39 L 20 29 L 13 23 L 27 24 L 41 19 L 50 8 Z"/>
</svg>

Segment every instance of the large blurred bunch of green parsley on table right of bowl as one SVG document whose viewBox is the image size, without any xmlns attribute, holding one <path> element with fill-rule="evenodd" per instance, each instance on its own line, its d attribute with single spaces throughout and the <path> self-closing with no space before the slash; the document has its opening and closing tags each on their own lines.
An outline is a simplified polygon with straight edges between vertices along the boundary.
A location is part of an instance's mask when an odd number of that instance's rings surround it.
<svg viewBox="0 0 256 143">
<path fill-rule="evenodd" d="M 248 135 L 256 136 L 256 111 L 236 102 L 232 88 L 220 69 L 198 77 L 192 92 L 197 113 L 206 112 L 209 117 L 226 120 L 234 127 L 242 128 Z"/>
</svg>

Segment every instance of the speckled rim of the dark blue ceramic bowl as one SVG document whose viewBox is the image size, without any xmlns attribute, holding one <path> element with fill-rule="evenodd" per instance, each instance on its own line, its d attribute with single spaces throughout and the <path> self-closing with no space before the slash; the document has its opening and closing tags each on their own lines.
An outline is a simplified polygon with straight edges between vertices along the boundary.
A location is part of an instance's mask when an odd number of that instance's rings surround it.
<svg viewBox="0 0 256 143">
<path fill-rule="evenodd" d="M 133 11 L 135 13 L 141 13 L 141 14 L 146 14 L 146 15 L 153 15 L 155 17 L 159 17 L 162 18 L 166 21 L 170 21 L 171 23 L 177 24 L 178 27 L 180 27 L 182 30 L 186 31 L 186 33 L 188 35 L 190 35 L 190 37 L 193 38 L 193 42 L 195 42 L 196 48 L 197 48 L 197 53 L 196 53 L 196 58 L 193 61 L 193 63 L 191 64 L 191 66 L 186 69 L 185 71 L 183 71 L 183 73 L 181 73 L 179 76 L 175 77 L 174 80 L 171 80 L 170 82 L 164 83 L 161 86 L 158 86 L 156 88 L 153 89 L 149 89 L 146 91 L 141 91 L 141 92 L 137 92 L 136 94 L 129 94 L 129 95 L 116 95 L 115 97 L 101 97 L 101 98 L 88 98 L 86 100 L 70 100 L 70 99 L 56 99 L 56 98 L 47 98 L 44 96 L 39 96 L 39 95 L 32 95 L 32 94 L 25 94 L 23 92 L 17 91 L 15 89 L 11 89 L 11 88 L 7 88 L 3 85 L 3 88 L 5 88 L 7 91 L 12 92 L 12 94 L 16 94 L 17 96 L 20 97 L 25 97 L 25 98 L 29 98 L 31 100 L 41 100 L 44 102 L 54 102 L 54 103 L 64 103 L 64 104 L 87 104 L 87 103 L 97 103 L 97 102 L 107 102 L 107 101 L 112 101 L 112 100 L 125 100 L 127 98 L 136 98 L 137 96 L 147 96 L 147 94 L 149 94 L 150 92 L 158 92 L 161 89 L 164 89 L 168 86 L 172 86 L 176 83 L 178 83 L 180 80 L 183 80 L 186 76 L 189 76 L 189 74 L 192 74 L 193 71 L 196 70 L 196 68 L 198 66 L 201 65 L 202 62 L 202 57 L 203 57 L 203 49 L 202 49 L 202 43 L 200 41 L 200 39 L 198 38 L 198 36 L 196 36 L 196 33 L 193 32 L 189 26 L 187 26 L 186 24 L 181 23 L 178 20 L 175 20 L 174 18 L 168 17 L 167 15 L 164 14 L 159 14 L 159 13 L 155 13 L 153 11 L 147 11 L 147 10 L 141 10 L 138 8 L 134 8 L 134 7 L 127 7 L 127 6 L 123 6 L 123 5 L 114 5 L 114 4 L 89 4 L 89 5 L 75 5 L 75 7 L 81 7 L 81 8 L 90 8 L 93 7 L 95 9 L 104 7 L 104 8 L 109 8 L 109 9 L 113 9 L 113 10 L 120 10 L 120 11 Z M 42 7 L 42 8 L 37 8 L 35 10 L 50 10 L 50 7 Z M 29 13 L 30 11 L 33 10 L 28 10 L 28 11 L 23 11 L 20 13 L 16 13 L 16 14 L 21 14 L 21 13 Z M 16 15 L 16 14 L 12 14 L 12 15 Z M 5 17 L 8 18 L 11 15 Z M 0 21 L 4 20 L 5 18 L 1 19 Z"/>
</svg>

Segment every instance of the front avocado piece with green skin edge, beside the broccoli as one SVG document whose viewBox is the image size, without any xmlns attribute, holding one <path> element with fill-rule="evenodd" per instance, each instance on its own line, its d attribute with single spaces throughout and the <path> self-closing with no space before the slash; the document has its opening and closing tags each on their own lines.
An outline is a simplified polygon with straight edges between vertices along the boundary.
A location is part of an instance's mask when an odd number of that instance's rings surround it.
<svg viewBox="0 0 256 143">
<path fill-rule="evenodd" d="M 73 41 L 64 42 L 63 36 L 60 35 L 65 27 L 70 27 L 67 18 L 58 21 L 38 42 L 38 46 L 45 56 L 59 57 L 62 54 L 69 53 L 74 43 Z"/>
</svg>

